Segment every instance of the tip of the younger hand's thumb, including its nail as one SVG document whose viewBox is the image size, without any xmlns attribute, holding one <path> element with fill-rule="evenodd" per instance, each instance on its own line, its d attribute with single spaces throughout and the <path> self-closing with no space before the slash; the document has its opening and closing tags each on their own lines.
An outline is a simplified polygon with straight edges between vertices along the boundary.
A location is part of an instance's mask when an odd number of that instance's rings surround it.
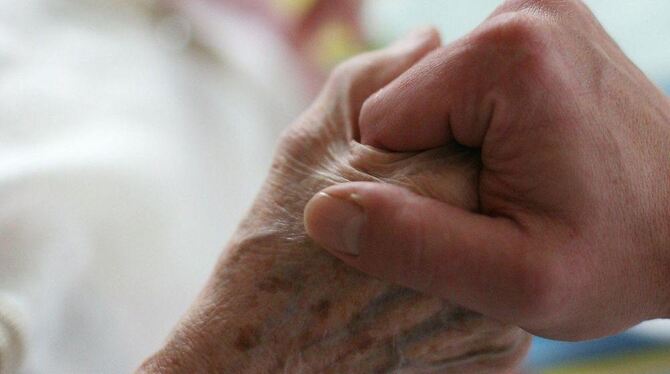
<svg viewBox="0 0 670 374">
<path fill-rule="evenodd" d="M 350 194 L 335 197 L 324 192 L 316 194 L 305 207 L 305 229 L 318 244 L 331 251 L 359 254 L 365 212 Z"/>
</svg>

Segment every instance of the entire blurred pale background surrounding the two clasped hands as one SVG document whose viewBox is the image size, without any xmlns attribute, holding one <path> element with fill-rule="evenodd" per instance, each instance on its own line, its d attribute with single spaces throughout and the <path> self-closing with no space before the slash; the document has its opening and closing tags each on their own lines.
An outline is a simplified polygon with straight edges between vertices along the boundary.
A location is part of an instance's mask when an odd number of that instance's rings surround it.
<svg viewBox="0 0 670 374">
<path fill-rule="evenodd" d="M 670 91 L 670 2 L 586 1 Z M 0 0 L 0 373 L 129 372 L 339 61 L 499 1 Z M 20 362 L 22 368 L 18 369 Z M 670 373 L 670 326 L 535 339 L 532 373 Z"/>
</svg>

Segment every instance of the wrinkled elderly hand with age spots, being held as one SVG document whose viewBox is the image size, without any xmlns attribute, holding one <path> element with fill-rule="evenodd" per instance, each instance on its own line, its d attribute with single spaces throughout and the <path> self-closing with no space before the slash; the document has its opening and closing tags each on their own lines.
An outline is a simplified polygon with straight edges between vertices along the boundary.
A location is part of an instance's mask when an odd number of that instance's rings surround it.
<svg viewBox="0 0 670 374">
<path fill-rule="evenodd" d="M 190 311 L 140 373 L 506 373 L 529 335 L 451 302 L 374 279 L 319 248 L 303 208 L 348 181 L 403 186 L 477 209 L 477 158 L 450 144 L 361 145 L 370 94 L 439 46 L 432 30 L 336 69 L 283 135 L 270 176 Z"/>
</svg>

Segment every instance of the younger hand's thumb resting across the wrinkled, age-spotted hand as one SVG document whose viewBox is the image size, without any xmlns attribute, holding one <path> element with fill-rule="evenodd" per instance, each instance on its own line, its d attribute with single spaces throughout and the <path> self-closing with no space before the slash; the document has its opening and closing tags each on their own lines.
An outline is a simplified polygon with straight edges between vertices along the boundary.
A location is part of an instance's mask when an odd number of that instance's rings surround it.
<svg viewBox="0 0 670 374">
<path fill-rule="evenodd" d="M 305 208 L 308 234 L 345 263 L 502 320 L 534 305 L 533 252 L 493 218 L 387 184 L 325 189 Z"/>
</svg>

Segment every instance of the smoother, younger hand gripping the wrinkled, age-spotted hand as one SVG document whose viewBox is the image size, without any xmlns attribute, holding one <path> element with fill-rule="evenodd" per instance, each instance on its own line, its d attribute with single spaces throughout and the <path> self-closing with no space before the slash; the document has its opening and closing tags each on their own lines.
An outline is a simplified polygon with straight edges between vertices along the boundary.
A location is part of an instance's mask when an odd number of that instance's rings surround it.
<svg viewBox="0 0 670 374">
<path fill-rule="evenodd" d="M 505 2 L 372 95 L 359 124 L 387 150 L 477 152 L 479 212 L 326 189 L 307 229 L 349 265 L 551 338 L 670 316 L 670 99 L 581 2 Z"/>
</svg>

